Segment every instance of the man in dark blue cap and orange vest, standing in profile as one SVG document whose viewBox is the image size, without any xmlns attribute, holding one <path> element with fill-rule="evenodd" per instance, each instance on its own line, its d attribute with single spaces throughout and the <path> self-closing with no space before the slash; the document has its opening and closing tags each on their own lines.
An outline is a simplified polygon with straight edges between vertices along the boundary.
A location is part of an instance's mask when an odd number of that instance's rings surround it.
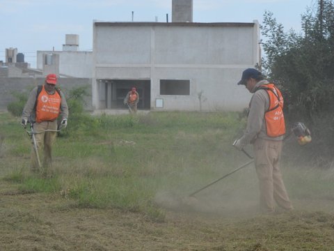
<svg viewBox="0 0 334 251">
<path fill-rule="evenodd" d="M 276 204 L 290 211 L 293 206 L 280 174 L 280 155 L 285 134 L 283 96 L 274 84 L 253 68 L 244 70 L 238 84 L 246 86 L 253 97 L 250 100 L 246 132 L 234 142 L 234 146 L 242 150 L 247 144 L 253 144 L 255 169 L 260 183 L 261 211 L 274 213 Z"/>
</svg>

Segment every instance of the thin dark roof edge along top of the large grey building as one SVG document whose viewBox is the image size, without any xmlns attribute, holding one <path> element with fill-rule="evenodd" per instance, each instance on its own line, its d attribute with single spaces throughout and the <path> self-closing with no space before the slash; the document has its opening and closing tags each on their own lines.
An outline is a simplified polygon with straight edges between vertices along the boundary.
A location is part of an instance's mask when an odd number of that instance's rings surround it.
<svg viewBox="0 0 334 251">
<path fill-rule="evenodd" d="M 103 22 L 93 21 L 95 26 L 254 26 L 255 22 Z"/>
</svg>

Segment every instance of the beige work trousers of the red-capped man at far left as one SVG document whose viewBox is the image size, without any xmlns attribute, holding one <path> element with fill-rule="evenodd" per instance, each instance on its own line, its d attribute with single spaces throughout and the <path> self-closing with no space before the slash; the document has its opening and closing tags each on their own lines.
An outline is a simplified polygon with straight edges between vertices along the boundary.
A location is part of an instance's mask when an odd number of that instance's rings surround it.
<svg viewBox="0 0 334 251">
<path fill-rule="evenodd" d="M 51 166 L 51 160 L 52 160 L 52 145 L 54 144 L 54 140 L 56 139 L 56 133 L 57 132 L 45 132 L 45 130 L 57 130 L 57 121 L 49 122 L 49 121 L 42 121 L 41 123 L 34 123 L 33 124 L 33 132 L 35 133 L 35 141 L 38 147 L 38 155 L 40 158 L 43 157 L 43 162 L 41 163 L 42 166 L 40 168 L 38 167 L 38 158 L 35 153 L 35 149 L 31 149 L 31 170 L 33 172 L 40 171 L 47 171 L 47 168 Z M 33 142 L 32 142 L 33 144 Z M 41 155 L 42 151 L 40 149 L 43 146 L 43 154 Z"/>
</svg>

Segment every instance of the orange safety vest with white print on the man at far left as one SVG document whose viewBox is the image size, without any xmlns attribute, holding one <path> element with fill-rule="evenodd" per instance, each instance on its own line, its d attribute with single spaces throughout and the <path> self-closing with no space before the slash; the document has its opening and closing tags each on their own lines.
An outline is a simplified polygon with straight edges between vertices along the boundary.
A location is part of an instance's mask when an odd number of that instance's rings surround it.
<svg viewBox="0 0 334 251">
<path fill-rule="evenodd" d="M 36 121 L 55 121 L 58 118 L 61 108 L 61 96 L 58 91 L 49 94 L 45 91 L 44 85 L 37 97 L 36 105 Z"/>
</svg>

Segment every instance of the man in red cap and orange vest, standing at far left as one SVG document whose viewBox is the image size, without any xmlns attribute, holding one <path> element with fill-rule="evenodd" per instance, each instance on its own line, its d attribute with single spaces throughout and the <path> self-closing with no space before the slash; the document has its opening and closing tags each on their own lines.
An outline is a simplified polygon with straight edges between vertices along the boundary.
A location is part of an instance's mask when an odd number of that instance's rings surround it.
<svg viewBox="0 0 334 251">
<path fill-rule="evenodd" d="M 51 165 L 51 150 L 56 131 L 58 128 L 57 119 L 61 118 L 60 128 L 67 126 L 68 107 L 65 100 L 65 94 L 56 89 L 57 76 L 49 74 L 45 77 L 45 83 L 42 86 L 36 86 L 24 106 L 21 124 L 26 128 L 29 121 L 33 124 L 33 132 L 37 149 L 44 146 L 44 161 L 42 167 L 47 171 Z M 35 149 L 31 151 L 31 170 L 38 172 L 40 170 L 39 159 Z"/>
</svg>

